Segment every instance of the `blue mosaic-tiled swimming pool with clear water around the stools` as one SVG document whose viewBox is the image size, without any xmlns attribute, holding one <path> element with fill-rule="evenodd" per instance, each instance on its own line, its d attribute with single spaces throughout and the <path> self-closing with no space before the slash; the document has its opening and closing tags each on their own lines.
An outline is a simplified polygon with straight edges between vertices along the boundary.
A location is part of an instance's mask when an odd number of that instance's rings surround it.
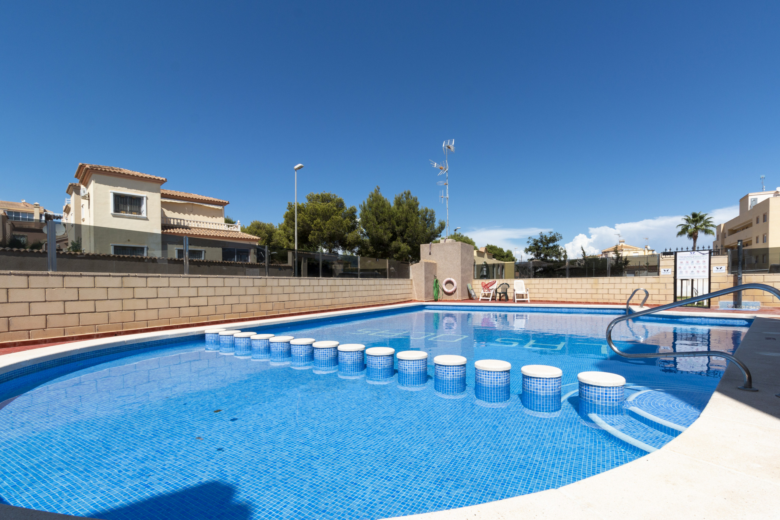
<svg viewBox="0 0 780 520">
<path fill-rule="evenodd" d="M 583 420 L 578 373 L 621 374 L 633 408 L 685 427 L 725 369 L 718 358 L 615 356 L 604 331 L 620 313 L 417 306 L 251 329 L 420 349 L 429 365 L 465 356 L 459 399 L 437 394 L 433 381 L 406 391 L 222 356 L 204 351 L 202 336 L 22 370 L 0 385 L 0 498 L 107 520 L 385 518 L 563 486 L 645 453 Z M 621 324 L 614 337 L 627 352 L 734 352 L 749 324 L 654 317 Z M 474 398 L 477 359 L 512 363 L 506 405 Z M 530 364 L 562 369 L 557 415 L 520 402 L 519 368 Z M 643 417 L 608 421 L 651 447 L 675 435 Z"/>
</svg>

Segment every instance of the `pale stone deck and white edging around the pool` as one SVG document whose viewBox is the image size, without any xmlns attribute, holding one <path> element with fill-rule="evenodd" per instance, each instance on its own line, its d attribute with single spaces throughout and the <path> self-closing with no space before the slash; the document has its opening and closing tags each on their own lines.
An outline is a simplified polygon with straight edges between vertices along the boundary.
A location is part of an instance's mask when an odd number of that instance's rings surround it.
<svg viewBox="0 0 780 520">
<path fill-rule="evenodd" d="M 452 305 L 451 302 L 441 304 Z M 419 303 L 388 305 L 374 310 L 413 305 Z M 459 305 L 478 304 L 462 302 Z M 495 306 L 495 303 L 485 306 Z M 561 303 L 531 306 L 594 308 L 590 305 Z M 601 309 L 605 307 L 624 308 L 597 306 Z M 365 311 L 247 320 L 235 326 L 253 327 L 276 321 L 291 322 Z M 663 314 L 684 316 L 694 313 L 686 309 L 683 312 Z M 739 346 L 737 356 L 750 367 L 753 386 L 759 391 L 738 390 L 736 387 L 742 384 L 742 375 L 739 368 L 730 364 L 699 419 L 665 447 L 650 455 L 555 490 L 398 518 L 780 518 L 780 398 L 775 397 L 775 394 L 780 393 L 780 320 L 762 317 L 764 313 L 761 311 L 754 314 L 711 310 L 705 314 L 707 317 L 755 318 Z M 0 373 L 73 352 L 197 334 L 211 327 L 213 325 L 25 349 L 0 356 Z M 0 518 L 64 520 L 83 517 L 0 504 Z"/>
</svg>

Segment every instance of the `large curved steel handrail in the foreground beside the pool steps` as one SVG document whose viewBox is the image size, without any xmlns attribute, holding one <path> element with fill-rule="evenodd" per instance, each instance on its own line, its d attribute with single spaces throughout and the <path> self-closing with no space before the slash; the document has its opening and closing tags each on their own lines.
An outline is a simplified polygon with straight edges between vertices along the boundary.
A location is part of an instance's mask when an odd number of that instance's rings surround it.
<svg viewBox="0 0 780 520">
<path fill-rule="evenodd" d="M 687 358 L 687 357 L 707 356 L 707 357 L 718 357 L 718 358 L 729 359 L 729 361 L 733 361 L 734 363 L 736 363 L 737 366 L 739 366 L 739 370 L 742 370 L 743 376 L 745 377 L 745 383 L 743 384 L 743 386 L 738 387 L 739 390 L 757 391 L 756 388 L 753 388 L 753 377 L 750 376 L 750 370 L 748 370 L 745 363 L 742 363 L 741 361 L 739 361 L 739 359 L 736 359 L 736 357 L 732 356 L 728 352 L 723 352 L 722 350 L 710 350 L 710 351 L 693 351 L 693 352 L 664 352 L 664 353 L 647 352 L 647 353 L 640 353 L 640 354 L 626 354 L 625 352 L 620 352 L 618 348 L 615 347 L 615 343 L 612 342 L 612 329 L 615 327 L 615 325 L 619 324 L 621 321 L 633 320 L 633 318 L 642 317 L 647 314 L 658 313 L 661 312 L 662 310 L 674 309 L 675 307 L 688 305 L 689 303 L 700 302 L 705 299 L 718 298 L 718 296 L 731 294 L 732 292 L 745 291 L 746 289 L 759 289 L 761 291 L 766 291 L 771 295 L 775 296 L 775 298 L 780 299 L 780 291 L 778 291 L 778 289 L 771 287 L 769 285 L 742 284 L 742 285 L 736 285 L 735 287 L 731 287 L 731 288 L 721 289 L 720 291 L 709 292 L 706 295 L 694 296 L 693 298 L 679 300 L 678 302 L 667 303 L 666 305 L 653 307 L 652 309 L 640 310 L 637 313 L 631 313 L 631 314 L 626 314 L 625 316 L 616 317 L 614 320 L 609 322 L 609 324 L 607 325 L 607 345 L 609 345 L 609 348 L 612 348 L 612 352 L 615 352 L 615 354 L 617 354 L 618 356 L 622 356 L 624 358 L 634 358 L 634 359 L 636 358 L 680 358 L 680 357 Z"/>
</svg>

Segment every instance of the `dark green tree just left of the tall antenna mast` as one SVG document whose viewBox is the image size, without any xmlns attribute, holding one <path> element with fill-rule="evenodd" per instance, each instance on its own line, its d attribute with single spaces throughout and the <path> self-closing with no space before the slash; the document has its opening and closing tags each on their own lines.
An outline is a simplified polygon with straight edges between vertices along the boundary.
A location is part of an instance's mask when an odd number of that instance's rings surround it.
<svg viewBox="0 0 780 520">
<path fill-rule="evenodd" d="M 420 244 L 433 242 L 444 231 L 445 221 L 436 223 L 436 213 L 420 207 L 420 201 L 407 189 L 395 196 L 392 205 L 379 186 L 360 204 L 358 249 L 363 256 L 420 260 Z"/>
</svg>

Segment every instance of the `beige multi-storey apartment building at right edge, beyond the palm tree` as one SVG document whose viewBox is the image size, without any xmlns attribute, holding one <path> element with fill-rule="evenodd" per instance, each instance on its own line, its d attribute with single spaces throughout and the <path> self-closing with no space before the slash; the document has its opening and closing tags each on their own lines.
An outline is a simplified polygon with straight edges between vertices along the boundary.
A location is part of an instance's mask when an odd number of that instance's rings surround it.
<svg viewBox="0 0 780 520">
<path fill-rule="evenodd" d="M 748 193 L 739 199 L 739 216 L 715 228 L 713 249 L 780 246 L 780 188 Z"/>
</svg>

